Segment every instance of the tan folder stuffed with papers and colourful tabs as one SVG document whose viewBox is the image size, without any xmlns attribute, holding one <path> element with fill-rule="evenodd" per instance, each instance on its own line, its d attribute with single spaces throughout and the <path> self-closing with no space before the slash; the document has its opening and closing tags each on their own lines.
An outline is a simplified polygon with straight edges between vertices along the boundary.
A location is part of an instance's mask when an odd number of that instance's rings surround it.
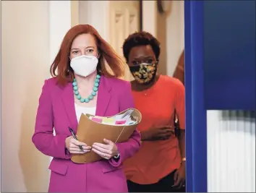
<svg viewBox="0 0 256 193">
<path fill-rule="evenodd" d="M 114 116 L 93 116 L 82 114 L 77 126 L 77 140 L 91 146 L 94 142 L 103 143 L 103 139 L 112 142 L 126 142 L 140 124 L 142 115 L 135 108 L 128 108 Z M 91 163 L 101 160 L 101 156 L 91 151 L 72 155 L 74 163 Z"/>
</svg>

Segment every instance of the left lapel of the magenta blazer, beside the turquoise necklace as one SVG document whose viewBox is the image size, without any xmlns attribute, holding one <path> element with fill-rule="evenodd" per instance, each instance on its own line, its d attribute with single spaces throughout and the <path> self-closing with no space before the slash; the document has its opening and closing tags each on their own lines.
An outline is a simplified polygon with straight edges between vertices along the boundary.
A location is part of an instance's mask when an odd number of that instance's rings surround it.
<svg viewBox="0 0 256 193">
<path fill-rule="evenodd" d="M 62 93 L 62 103 L 67 113 L 67 117 L 69 118 L 69 126 L 76 131 L 77 130 L 77 116 L 74 109 L 74 94 L 72 90 L 72 83 L 68 83 L 66 87 L 64 87 Z"/>
</svg>

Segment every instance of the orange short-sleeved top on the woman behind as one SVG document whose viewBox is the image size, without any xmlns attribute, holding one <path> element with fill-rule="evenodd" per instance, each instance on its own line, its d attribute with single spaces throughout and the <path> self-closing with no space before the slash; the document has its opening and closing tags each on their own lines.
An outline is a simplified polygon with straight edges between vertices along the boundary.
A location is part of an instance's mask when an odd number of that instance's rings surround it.
<svg viewBox="0 0 256 193">
<path fill-rule="evenodd" d="M 142 113 L 137 128 L 140 132 L 152 126 L 174 126 L 174 108 L 180 128 L 185 128 L 184 85 L 176 78 L 161 75 L 150 89 L 132 93 L 135 108 Z M 168 140 L 143 141 L 140 150 L 124 162 L 124 172 L 137 184 L 154 184 L 179 168 L 180 162 L 178 140 L 171 136 Z"/>
</svg>

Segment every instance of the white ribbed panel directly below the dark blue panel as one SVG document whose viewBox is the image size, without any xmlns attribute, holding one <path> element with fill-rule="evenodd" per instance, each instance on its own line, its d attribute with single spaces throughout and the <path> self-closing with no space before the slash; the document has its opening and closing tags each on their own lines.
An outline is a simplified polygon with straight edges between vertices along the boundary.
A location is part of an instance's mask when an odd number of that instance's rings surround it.
<svg viewBox="0 0 256 193">
<path fill-rule="evenodd" d="M 208 111 L 208 192 L 255 192 L 255 112 Z"/>
</svg>

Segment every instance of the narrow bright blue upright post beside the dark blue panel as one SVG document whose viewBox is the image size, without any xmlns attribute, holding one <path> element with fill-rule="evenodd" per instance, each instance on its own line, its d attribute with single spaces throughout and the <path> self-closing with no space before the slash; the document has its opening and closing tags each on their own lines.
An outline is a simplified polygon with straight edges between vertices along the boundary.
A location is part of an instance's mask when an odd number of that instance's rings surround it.
<svg viewBox="0 0 256 193">
<path fill-rule="evenodd" d="M 184 1 L 187 192 L 207 192 L 203 1 Z"/>
</svg>

